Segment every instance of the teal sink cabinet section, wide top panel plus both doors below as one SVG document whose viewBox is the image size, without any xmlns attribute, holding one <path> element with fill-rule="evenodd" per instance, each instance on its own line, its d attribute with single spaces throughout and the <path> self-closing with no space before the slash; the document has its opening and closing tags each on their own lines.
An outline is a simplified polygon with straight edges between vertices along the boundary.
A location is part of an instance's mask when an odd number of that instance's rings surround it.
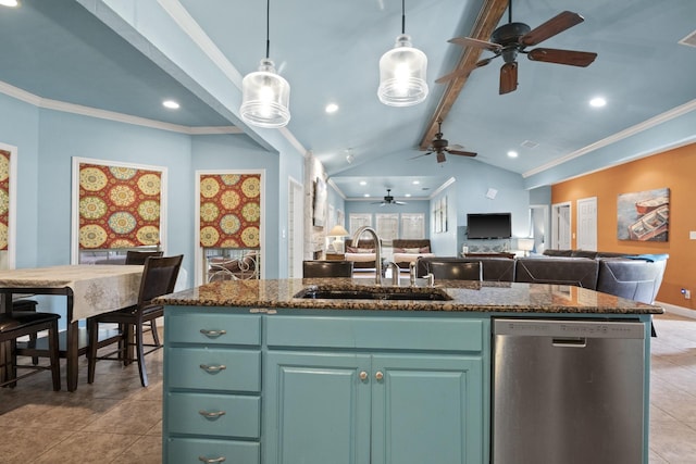
<svg viewBox="0 0 696 464">
<path fill-rule="evenodd" d="M 264 462 L 483 462 L 484 326 L 269 316 Z"/>
</svg>

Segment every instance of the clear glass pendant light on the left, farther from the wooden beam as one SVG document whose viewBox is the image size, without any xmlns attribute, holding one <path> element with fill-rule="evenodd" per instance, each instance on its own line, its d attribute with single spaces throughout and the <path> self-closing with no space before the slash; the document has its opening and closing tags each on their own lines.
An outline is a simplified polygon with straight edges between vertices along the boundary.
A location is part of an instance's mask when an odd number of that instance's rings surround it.
<svg viewBox="0 0 696 464">
<path fill-rule="evenodd" d="M 241 80 L 241 118 L 258 127 L 284 127 L 290 121 L 290 85 L 275 72 L 273 61 L 269 59 L 271 0 L 266 1 L 265 16 L 265 58 L 261 60 L 259 71 L 247 74 Z"/>
</svg>

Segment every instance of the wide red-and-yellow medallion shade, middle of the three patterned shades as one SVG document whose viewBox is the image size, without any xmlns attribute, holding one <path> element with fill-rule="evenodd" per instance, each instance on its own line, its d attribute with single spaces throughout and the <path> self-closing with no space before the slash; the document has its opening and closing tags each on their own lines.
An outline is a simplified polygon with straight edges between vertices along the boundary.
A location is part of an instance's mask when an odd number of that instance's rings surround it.
<svg viewBox="0 0 696 464">
<path fill-rule="evenodd" d="M 159 171 L 79 164 L 79 248 L 160 244 Z"/>
</svg>

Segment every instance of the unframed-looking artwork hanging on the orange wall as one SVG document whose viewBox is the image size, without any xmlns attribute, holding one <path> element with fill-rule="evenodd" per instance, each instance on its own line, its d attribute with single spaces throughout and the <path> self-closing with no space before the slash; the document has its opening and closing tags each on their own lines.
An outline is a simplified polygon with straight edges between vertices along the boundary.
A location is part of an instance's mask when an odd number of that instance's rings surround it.
<svg viewBox="0 0 696 464">
<path fill-rule="evenodd" d="M 617 201 L 619 240 L 668 241 L 670 189 L 622 193 Z"/>
</svg>

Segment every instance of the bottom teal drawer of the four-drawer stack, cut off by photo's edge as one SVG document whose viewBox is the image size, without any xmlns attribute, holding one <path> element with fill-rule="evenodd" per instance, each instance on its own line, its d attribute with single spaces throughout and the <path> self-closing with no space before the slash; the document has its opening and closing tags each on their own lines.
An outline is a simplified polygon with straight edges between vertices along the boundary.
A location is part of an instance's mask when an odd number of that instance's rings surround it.
<svg viewBox="0 0 696 464">
<path fill-rule="evenodd" d="M 223 462 L 222 457 L 225 463 L 229 464 L 259 464 L 261 462 L 259 443 L 192 438 L 172 438 L 166 440 L 166 443 L 165 462 L 167 464 L 200 464 L 206 459 L 210 462 Z"/>
</svg>

